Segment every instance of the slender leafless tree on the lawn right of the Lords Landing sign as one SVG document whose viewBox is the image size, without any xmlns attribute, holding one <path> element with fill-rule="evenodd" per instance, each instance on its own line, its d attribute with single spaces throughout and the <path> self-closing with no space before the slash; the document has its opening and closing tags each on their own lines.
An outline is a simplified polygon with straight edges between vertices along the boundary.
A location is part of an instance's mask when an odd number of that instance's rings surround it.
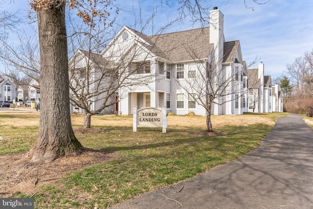
<svg viewBox="0 0 313 209">
<path fill-rule="evenodd" d="M 227 71 L 222 68 L 224 56 L 214 59 L 215 49 L 212 49 L 213 53 L 207 60 L 201 59 L 192 48 L 186 48 L 186 50 L 194 57 L 196 66 L 189 68 L 187 75 L 174 74 L 172 77 L 176 79 L 179 87 L 188 93 L 188 106 L 192 107 L 198 103 L 205 109 L 207 131 L 212 132 L 213 106 L 218 108 L 235 100 L 236 108 L 240 108 L 239 98 L 246 98 L 246 66 L 244 63 L 238 63 L 234 69 Z"/>
</svg>

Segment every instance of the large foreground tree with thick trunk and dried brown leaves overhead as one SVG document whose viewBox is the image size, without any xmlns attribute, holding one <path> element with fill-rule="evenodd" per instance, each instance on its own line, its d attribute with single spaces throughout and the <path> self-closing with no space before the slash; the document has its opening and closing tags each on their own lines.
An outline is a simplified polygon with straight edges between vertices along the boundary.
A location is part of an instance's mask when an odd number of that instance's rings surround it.
<svg viewBox="0 0 313 209">
<path fill-rule="evenodd" d="M 181 5 L 191 5 L 188 4 L 189 2 L 191 1 L 178 0 Z M 108 20 L 110 16 L 108 8 L 113 5 L 109 0 L 30 0 L 31 8 L 37 13 L 42 103 L 39 136 L 32 149 L 33 161 L 50 162 L 63 155 L 77 154 L 82 148 L 74 136 L 69 114 L 66 4 L 70 9 L 76 9 L 78 16 L 89 26 L 97 24 L 91 18 L 95 16 L 99 17 L 102 23 L 109 25 L 111 23 Z M 106 5 L 107 9 L 98 10 L 98 7 L 94 6 L 95 4 Z M 191 10 L 191 17 L 195 19 L 193 17 L 201 16 L 201 12 L 205 11 L 201 7 L 196 3 L 185 8 Z M 192 8 L 196 9 L 192 10 Z M 203 20 L 203 18 L 199 19 Z M 89 54 L 91 55 L 91 53 Z M 19 66 L 18 62 L 16 63 L 15 66 Z M 139 69 L 143 64 L 139 63 Z M 125 79 L 125 76 L 120 78 L 121 81 L 128 80 Z M 134 79 L 132 82 L 139 80 L 139 78 Z M 56 103 L 59 105 L 55 105 Z"/>
</svg>

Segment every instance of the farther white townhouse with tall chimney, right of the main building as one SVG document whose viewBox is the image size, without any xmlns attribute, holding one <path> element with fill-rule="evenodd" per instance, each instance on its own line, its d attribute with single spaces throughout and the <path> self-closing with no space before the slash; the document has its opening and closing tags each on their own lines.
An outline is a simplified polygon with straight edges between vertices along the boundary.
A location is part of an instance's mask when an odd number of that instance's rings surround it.
<svg viewBox="0 0 313 209">
<path fill-rule="evenodd" d="M 248 77 L 248 112 L 273 112 L 271 76 L 264 75 L 264 64 L 261 62 L 258 69 L 249 69 Z M 274 104 L 276 105 L 276 104 Z M 254 111 L 253 111 L 254 109 Z"/>
</svg>

